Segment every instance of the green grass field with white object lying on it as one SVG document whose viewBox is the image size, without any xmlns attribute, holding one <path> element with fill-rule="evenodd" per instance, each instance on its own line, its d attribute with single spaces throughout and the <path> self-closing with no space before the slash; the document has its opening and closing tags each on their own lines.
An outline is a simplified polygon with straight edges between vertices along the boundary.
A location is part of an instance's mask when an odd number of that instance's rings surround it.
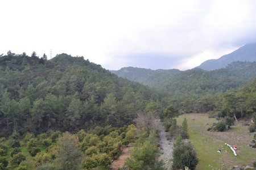
<svg viewBox="0 0 256 170">
<path fill-rule="evenodd" d="M 208 114 L 183 114 L 177 118 L 178 125 L 181 126 L 184 117 L 188 121 L 189 141 L 195 146 L 199 158 L 196 169 L 230 169 L 235 165 L 249 165 L 256 160 L 256 148 L 248 146 L 253 139 L 248 126 L 236 122 L 228 131 L 207 131 L 213 122 L 217 122 L 214 118 L 208 118 Z M 238 147 L 237 156 L 225 143 Z M 218 153 L 218 150 L 222 153 Z"/>
</svg>

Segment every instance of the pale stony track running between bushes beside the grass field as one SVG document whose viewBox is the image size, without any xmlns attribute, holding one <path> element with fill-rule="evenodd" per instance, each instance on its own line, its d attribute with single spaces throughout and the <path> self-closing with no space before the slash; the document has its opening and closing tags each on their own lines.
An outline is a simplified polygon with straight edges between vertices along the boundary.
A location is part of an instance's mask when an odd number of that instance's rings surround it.
<svg viewBox="0 0 256 170">
<path fill-rule="evenodd" d="M 160 154 L 159 160 L 163 160 L 166 169 L 171 169 L 171 163 L 172 163 L 172 148 L 174 145 L 174 140 L 171 141 L 167 140 L 167 134 L 168 132 L 164 131 L 164 126 L 162 122 L 158 119 L 156 120 L 156 128 L 159 130 L 159 152 L 163 153 Z"/>
</svg>

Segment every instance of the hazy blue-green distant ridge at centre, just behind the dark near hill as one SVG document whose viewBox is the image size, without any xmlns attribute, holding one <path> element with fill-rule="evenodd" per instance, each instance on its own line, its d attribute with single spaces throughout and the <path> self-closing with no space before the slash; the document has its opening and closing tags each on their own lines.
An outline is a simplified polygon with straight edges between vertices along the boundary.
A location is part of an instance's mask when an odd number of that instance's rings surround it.
<svg viewBox="0 0 256 170">
<path fill-rule="evenodd" d="M 122 78 L 127 78 L 131 81 L 139 82 L 144 85 L 152 86 L 155 82 L 162 81 L 166 79 L 167 76 L 180 73 L 180 70 L 170 69 L 170 70 L 151 70 L 151 69 L 142 69 L 138 67 L 123 67 L 120 70 L 114 71 L 112 73 L 117 74 Z"/>
</svg>

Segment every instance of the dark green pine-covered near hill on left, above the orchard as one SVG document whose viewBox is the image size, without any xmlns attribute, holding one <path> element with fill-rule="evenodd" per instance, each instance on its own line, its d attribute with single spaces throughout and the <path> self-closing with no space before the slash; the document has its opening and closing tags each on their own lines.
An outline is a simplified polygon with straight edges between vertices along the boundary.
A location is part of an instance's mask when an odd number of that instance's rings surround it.
<svg viewBox="0 0 256 170">
<path fill-rule="evenodd" d="M 118 78 L 83 57 L 9 51 L 0 58 L 1 136 L 13 130 L 76 131 L 97 125 L 131 124 L 160 96 L 137 82 Z"/>
</svg>

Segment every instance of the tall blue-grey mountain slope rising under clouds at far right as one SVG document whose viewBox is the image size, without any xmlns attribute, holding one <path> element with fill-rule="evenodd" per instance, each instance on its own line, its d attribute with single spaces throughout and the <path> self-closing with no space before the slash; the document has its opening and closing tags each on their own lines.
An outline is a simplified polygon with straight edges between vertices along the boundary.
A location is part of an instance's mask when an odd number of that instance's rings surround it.
<svg viewBox="0 0 256 170">
<path fill-rule="evenodd" d="M 219 59 L 209 59 L 201 63 L 201 65 L 196 68 L 208 71 L 216 70 L 225 68 L 229 63 L 232 63 L 234 61 L 256 61 L 256 43 L 246 44 L 241 48 L 235 50 L 234 52 L 226 54 Z"/>
</svg>

